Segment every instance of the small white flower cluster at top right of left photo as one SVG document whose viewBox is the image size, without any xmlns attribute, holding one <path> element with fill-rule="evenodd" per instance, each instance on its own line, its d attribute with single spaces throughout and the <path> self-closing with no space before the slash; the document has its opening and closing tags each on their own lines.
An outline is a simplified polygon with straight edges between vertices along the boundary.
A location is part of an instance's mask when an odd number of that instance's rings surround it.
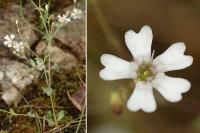
<svg viewBox="0 0 200 133">
<path fill-rule="evenodd" d="M 78 8 L 73 8 L 71 12 L 66 12 L 66 14 L 58 15 L 57 19 L 60 23 L 67 24 L 74 19 L 81 19 L 82 10 Z"/>
</svg>

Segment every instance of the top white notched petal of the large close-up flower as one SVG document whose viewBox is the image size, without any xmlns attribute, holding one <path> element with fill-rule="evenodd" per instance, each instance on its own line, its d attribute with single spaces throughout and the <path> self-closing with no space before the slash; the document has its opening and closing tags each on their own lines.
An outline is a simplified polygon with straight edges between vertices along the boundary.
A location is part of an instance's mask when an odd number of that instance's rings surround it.
<svg viewBox="0 0 200 133">
<path fill-rule="evenodd" d="M 125 34 L 126 45 L 139 63 L 150 61 L 152 39 L 153 33 L 149 26 L 143 26 L 139 33 L 129 30 Z"/>
</svg>

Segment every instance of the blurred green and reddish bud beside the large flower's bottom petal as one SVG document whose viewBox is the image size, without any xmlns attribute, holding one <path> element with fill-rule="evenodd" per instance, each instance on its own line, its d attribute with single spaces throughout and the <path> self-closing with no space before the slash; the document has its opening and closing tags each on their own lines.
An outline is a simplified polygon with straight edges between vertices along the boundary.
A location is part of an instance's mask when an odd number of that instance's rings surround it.
<svg viewBox="0 0 200 133">
<path fill-rule="evenodd" d="M 123 99 L 119 91 L 113 91 L 110 95 L 110 104 L 113 113 L 120 115 L 123 112 Z"/>
</svg>

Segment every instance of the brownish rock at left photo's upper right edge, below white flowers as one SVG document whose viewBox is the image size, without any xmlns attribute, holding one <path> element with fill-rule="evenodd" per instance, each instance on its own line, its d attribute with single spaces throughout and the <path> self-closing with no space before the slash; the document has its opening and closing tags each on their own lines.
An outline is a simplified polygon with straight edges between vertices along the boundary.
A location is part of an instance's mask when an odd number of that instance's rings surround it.
<svg viewBox="0 0 200 133">
<path fill-rule="evenodd" d="M 84 12 L 84 11 L 83 11 Z M 72 20 L 60 29 L 55 39 L 62 44 L 64 50 L 70 51 L 79 60 L 85 60 L 85 17 Z"/>
</svg>

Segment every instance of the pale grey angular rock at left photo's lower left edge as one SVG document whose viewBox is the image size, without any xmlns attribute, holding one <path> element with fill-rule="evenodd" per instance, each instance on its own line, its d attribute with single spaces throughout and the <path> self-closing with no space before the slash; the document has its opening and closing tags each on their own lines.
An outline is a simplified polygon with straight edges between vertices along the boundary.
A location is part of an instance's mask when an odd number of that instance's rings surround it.
<svg viewBox="0 0 200 133">
<path fill-rule="evenodd" d="M 0 58 L 0 75 L 1 98 L 10 105 L 18 102 L 19 93 L 37 80 L 39 72 L 18 61 Z"/>
</svg>

